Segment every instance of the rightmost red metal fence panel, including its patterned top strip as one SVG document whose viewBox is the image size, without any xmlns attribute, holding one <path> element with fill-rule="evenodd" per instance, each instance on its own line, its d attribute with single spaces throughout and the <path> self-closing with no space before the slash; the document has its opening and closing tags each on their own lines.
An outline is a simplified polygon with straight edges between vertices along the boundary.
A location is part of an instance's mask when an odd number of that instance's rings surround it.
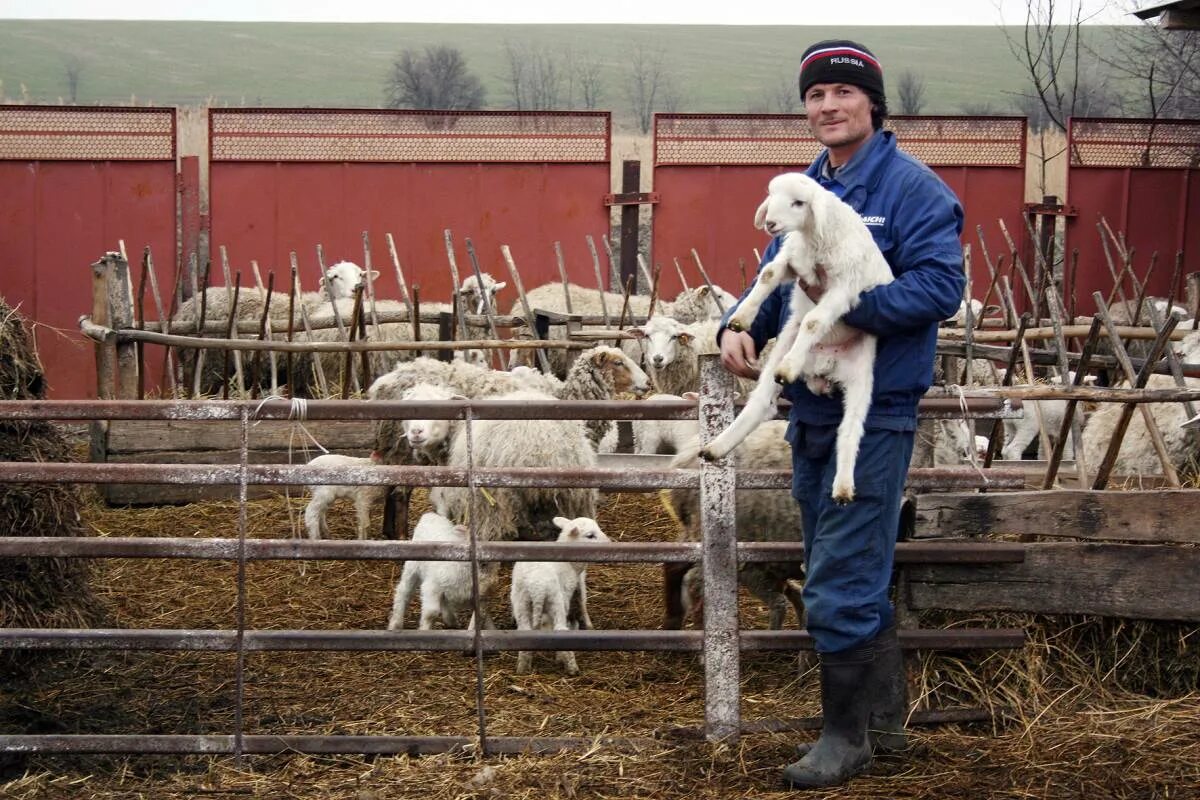
<svg viewBox="0 0 1200 800">
<path fill-rule="evenodd" d="M 1112 289 L 1098 228 L 1102 219 L 1133 248 L 1139 281 L 1146 277 L 1152 253 L 1158 253 L 1151 294 L 1171 293 L 1178 252 L 1181 276 L 1200 270 L 1200 122 L 1073 119 L 1067 136 L 1067 200 L 1076 212 L 1067 222 L 1067 252 L 1079 248 L 1079 267 L 1075 285 L 1064 290 L 1074 290 L 1079 313 L 1096 309 L 1093 291 L 1106 300 Z M 1109 241 L 1120 270 L 1121 258 Z M 1127 279 L 1126 296 L 1133 300 L 1135 291 Z M 1175 296 L 1184 296 L 1178 284 Z"/>
</svg>

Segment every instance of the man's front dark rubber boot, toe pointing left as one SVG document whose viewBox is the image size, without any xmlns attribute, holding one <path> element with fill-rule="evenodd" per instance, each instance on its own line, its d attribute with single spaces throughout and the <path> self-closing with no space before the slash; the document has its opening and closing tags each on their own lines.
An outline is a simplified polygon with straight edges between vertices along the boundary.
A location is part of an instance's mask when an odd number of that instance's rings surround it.
<svg viewBox="0 0 1200 800">
<path fill-rule="evenodd" d="M 852 650 L 821 654 L 821 738 L 800 760 L 784 769 L 793 789 L 840 786 L 871 764 L 866 721 L 871 697 L 866 680 L 874 642 Z"/>
</svg>

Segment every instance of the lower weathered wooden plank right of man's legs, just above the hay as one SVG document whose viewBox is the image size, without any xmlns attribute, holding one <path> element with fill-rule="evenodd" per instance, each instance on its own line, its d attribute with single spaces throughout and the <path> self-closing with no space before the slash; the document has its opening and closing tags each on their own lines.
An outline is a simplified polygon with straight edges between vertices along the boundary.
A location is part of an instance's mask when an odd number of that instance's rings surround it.
<svg viewBox="0 0 1200 800">
<path fill-rule="evenodd" d="M 1200 620 L 1200 549 L 1170 545 L 1027 543 L 1008 565 L 906 569 L 913 608 Z"/>
</svg>

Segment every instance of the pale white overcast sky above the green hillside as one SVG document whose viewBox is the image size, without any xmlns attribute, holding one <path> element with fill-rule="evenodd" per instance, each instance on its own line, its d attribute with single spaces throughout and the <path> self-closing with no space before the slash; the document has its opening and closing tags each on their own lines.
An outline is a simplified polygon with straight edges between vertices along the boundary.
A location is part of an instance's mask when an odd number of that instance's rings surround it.
<svg viewBox="0 0 1200 800">
<path fill-rule="evenodd" d="M 229 19 L 265 22 L 630 23 L 690 25 L 1020 25 L 1046 0 L 0 0 L 0 18 Z M 1136 22 L 1129 0 L 1060 0 L 1082 5 L 1092 22 Z M 1154 5 L 1151 0 L 1139 7 Z M 1061 19 L 1058 22 L 1070 22 Z"/>
</svg>

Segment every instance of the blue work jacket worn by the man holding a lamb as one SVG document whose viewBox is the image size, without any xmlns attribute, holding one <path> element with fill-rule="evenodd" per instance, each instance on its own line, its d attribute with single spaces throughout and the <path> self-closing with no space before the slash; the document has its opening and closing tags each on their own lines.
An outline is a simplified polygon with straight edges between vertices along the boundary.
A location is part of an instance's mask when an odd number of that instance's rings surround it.
<svg viewBox="0 0 1200 800">
<path fill-rule="evenodd" d="M 917 403 L 934 379 L 938 323 L 962 300 L 962 206 L 932 170 L 896 146 L 890 131 L 877 131 L 835 178 L 823 176 L 827 161 L 828 152 L 822 152 L 809 176 L 862 215 L 896 277 L 864 291 L 844 317 L 847 325 L 878 337 L 866 427 L 912 431 Z M 782 236 L 772 240 L 762 264 L 774 258 L 781 242 Z M 750 329 L 758 353 L 786 323 L 791 291 L 792 284 L 780 285 L 758 311 Z M 732 313 L 721 320 L 721 332 Z M 793 425 L 841 421 L 840 392 L 818 396 L 794 383 L 784 387 L 784 397 L 792 402 Z"/>
</svg>

